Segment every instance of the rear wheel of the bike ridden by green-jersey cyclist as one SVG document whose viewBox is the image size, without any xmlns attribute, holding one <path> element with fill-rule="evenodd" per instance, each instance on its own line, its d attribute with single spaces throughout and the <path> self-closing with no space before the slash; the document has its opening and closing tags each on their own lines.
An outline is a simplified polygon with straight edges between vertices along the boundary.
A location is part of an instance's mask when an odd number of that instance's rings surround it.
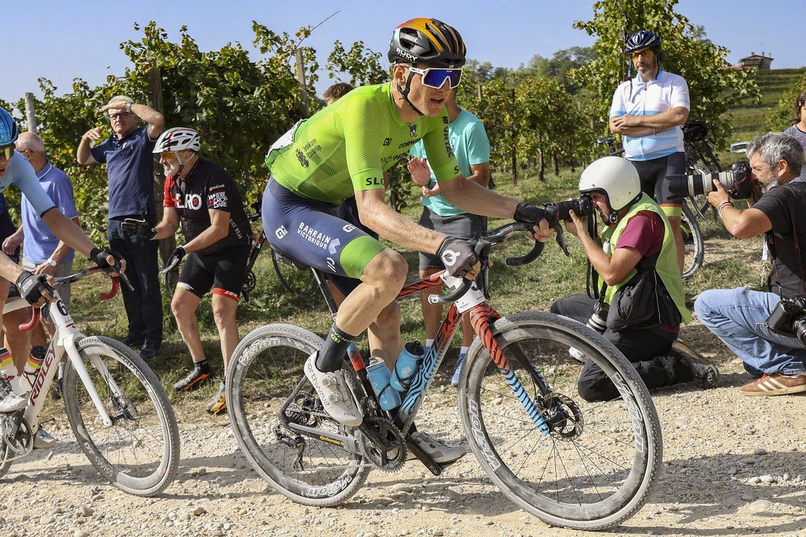
<svg viewBox="0 0 806 537">
<path fill-rule="evenodd" d="M 280 494 L 318 507 L 346 502 L 370 471 L 363 455 L 324 436 L 352 432 L 326 414 L 303 373 L 305 360 L 322 345 L 303 328 L 268 324 L 243 338 L 226 374 L 226 412 L 247 460 Z"/>
</svg>

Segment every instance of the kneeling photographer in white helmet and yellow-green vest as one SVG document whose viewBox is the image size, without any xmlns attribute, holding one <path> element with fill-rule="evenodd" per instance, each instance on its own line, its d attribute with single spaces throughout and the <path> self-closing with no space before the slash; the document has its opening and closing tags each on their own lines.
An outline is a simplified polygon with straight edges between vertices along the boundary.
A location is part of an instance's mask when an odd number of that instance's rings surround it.
<svg viewBox="0 0 806 537">
<path fill-rule="evenodd" d="M 638 171 L 618 157 L 596 160 L 582 172 L 580 192 L 590 196 L 592 209 L 607 224 L 601 233 L 604 249 L 588 234 L 587 217 L 571 211 L 566 228 L 580 238 L 599 273 L 601 298 L 571 295 L 552 304 L 551 312 L 581 323 L 590 319 L 589 325 L 624 353 L 649 388 L 696 378 L 704 386 L 715 385 L 716 367 L 672 349 L 681 320 L 691 320 L 691 313 L 685 307 L 671 226 L 659 205 L 641 192 Z M 578 388 L 587 401 L 619 396 L 591 360 L 584 362 Z"/>
</svg>

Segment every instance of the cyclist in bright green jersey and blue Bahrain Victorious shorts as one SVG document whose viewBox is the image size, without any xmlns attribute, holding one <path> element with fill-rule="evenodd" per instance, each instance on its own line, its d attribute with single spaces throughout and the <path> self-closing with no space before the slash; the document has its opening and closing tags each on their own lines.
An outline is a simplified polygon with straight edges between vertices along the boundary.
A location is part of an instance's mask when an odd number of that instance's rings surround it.
<svg viewBox="0 0 806 537">
<path fill-rule="evenodd" d="M 347 345 L 368 329 L 372 356 L 393 368 L 403 348 L 394 299 L 408 266 L 355 222 L 334 216 L 345 198 L 355 193 L 360 221 L 388 241 L 437 254 L 451 275 L 474 277 L 480 270 L 475 241 L 423 228 L 384 202 L 384 170 L 422 139 L 451 204 L 469 213 L 539 223 L 538 240 L 550 236 L 542 209 L 482 188 L 459 171 L 445 107 L 465 63 L 459 32 L 436 19 L 409 20 L 395 29 L 388 59 L 391 83 L 352 90 L 272 146 L 267 155 L 272 177 L 263 198 L 272 247 L 326 271 L 347 291 L 325 345 L 305 362 L 305 375 L 327 413 L 354 427 L 363 413 L 341 370 Z M 464 454 L 464 448 L 444 446 L 422 432 L 413 432 L 412 439 L 437 462 Z"/>
</svg>

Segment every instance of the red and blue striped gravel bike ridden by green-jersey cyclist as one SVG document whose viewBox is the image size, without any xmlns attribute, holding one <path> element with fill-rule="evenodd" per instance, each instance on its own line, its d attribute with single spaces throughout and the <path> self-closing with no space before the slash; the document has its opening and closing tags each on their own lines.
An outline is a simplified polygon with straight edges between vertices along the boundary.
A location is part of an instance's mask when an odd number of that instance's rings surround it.
<svg viewBox="0 0 806 537">
<path fill-rule="evenodd" d="M 531 225 L 514 223 L 486 233 L 505 242 Z M 543 244 L 509 265 L 530 262 Z M 502 317 L 484 299 L 488 253 L 481 252 L 477 283 L 446 274 L 405 286 L 398 298 L 446 283 L 451 302 L 431 349 L 422 357 L 402 403 L 382 411 L 355 347 L 343 370 L 364 411 L 359 427 L 325 413 L 302 366 L 323 341 L 291 324 L 268 324 L 243 338 L 227 371 L 227 414 L 247 460 L 280 494 L 308 506 L 335 506 L 351 498 L 372 469 L 400 469 L 410 451 L 434 475 L 438 464 L 413 443 L 410 428 L 447 354 L 462 313 L 478 337 L 459 381 L 459 413 L 472 451 L 495 485 L 546 523 L 600 530 L 625 520 L 646 502 L 658 480 L 663 446 L 658 415 L 634 366 L 599 333 L 545 312 Z M 331 312 L 322 271 L 311 269 Z M 453 301 L 455 303 L 453 303 Z M 579 349 L 617 386 L 621 400 L 580 398 Z M 290 393 L 289 393 L 290 391 Z"/>
</svg>

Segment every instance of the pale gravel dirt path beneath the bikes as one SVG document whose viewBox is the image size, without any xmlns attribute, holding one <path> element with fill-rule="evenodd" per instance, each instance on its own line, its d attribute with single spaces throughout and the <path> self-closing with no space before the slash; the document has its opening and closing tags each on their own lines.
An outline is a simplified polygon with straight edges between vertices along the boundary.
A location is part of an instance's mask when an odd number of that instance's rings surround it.
<svg viewBox="0 0 806 537">
<path fill-rule="evenodd" d="M 717 359 L 717 361 L 719 361 Z M 746 398 L 739 363 L 707 392 L 659 390 L 664 468 L 649 502 L 613 535 L 806 535 L 806 417 L 800 396 Z M 462 441 L 451 390 L 426 402 L 430 431 Z M 179 477 L 159 498 L 118 492 L 89 465 L 63 418 L 59 440 L 0 482 L 2 535 L 589 535 L 547 527 L 489 483 L 472 455 L 433 477 L 418 463 L 371 474 L 347 505 L 299 506 L 240 454 L 226 417 L 179 407 Z M 338 532 L 338 534 L 337 534 Z"/>
</svg>

